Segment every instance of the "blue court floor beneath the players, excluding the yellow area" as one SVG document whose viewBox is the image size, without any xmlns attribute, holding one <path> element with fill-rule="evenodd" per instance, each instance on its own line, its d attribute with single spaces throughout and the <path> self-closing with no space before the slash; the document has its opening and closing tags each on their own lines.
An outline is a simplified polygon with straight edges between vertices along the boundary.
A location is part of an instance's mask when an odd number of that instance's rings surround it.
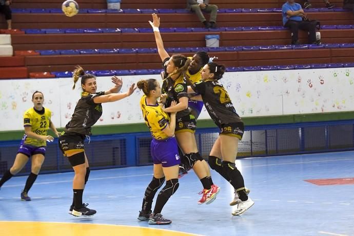
<svg viewBox="0 0 354 236">
<path fill-rule="evenodd" d="M 354 235 L 354 185 L 304 181 L 344 178 L 353 183 L 354 152 L 248 158 L 238 160 L 237 166 L 255 202 L 241 216 L 231 215 L 233 189 L 214 171 L 213 181 L 221 187 L 218 198 L 198 205 L 202 185 L 191 171 L 163 209 L 171 225 L 137 221 L 152 178 L 152 166 L 144 166 L 91 171 L 84 202 L 97 210 L 92 218 L 68 214 L 73 172 L 39 175 L 29 192 L 31 202 L 19 198 L 27 176 L 14 177 L 0 190 L 0 221 L 126 225 L 201 235 Z M 6 226 L 1 231 L 6 234 Z"/>
</svg>

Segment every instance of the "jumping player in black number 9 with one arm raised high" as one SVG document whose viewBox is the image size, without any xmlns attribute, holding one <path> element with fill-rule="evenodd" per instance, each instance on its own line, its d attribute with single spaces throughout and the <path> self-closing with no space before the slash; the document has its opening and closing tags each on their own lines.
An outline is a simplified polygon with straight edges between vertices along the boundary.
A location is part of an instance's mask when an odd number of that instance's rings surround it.
<svg viewBox="0 0 354 236">
<path fill-rule="evenodd" d="M 169 56 L 164 48 L 162 37 L 160 34 L 160 18 L 156 14 L 152 14 L 153 22 L 149 21 L 152 26 L 158 52 L 163 62 L 164 74 L 162 84 L 162 94 L 166 94 L 167 99 L 163 101 L 164 111 L 166 113 L 177 112 L 176 114 L 176 140 L 184 153 L 184 158 L 188 160 L 189 166 L 193 168 L 195 174 L 203 185 L 201 191 L 202 198 L 198 204 L 209 204 L 214 201 L 215 196 L 219 193 L 220 187 L 214 185 L 211 176 L 208 175 L 209 168 L 198 152 L 195 141 L 196 121 L 194 115 L 188 109 L 187 84 L 185 81 L 185 73 L 190 65 L 190 59 L 176 54 Z M 172 101 L 178 101 L 174 107 L 170 107 Z"/>
</svg>

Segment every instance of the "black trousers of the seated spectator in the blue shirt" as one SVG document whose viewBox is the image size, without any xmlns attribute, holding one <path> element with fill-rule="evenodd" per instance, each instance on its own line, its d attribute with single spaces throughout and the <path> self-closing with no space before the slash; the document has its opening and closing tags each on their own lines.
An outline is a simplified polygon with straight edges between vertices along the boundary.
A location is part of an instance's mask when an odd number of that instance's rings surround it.
<svg viewBox="0 0 354 236">
<path fill-rule="evenodd" d="M 289 19 L 285 23 L 284 26 L 288 27 L 290 29 L 292 43 L 299 40 L 299 37 L 298 37 L 299 29 L 308 31 L 308 43 L 309 44 L 313 44 L 314 42 L 316 42 L 316 23 L 308 22 L 308 21 L 298 22 L 298 21 L 292 21 L 292 19 Z"/>
</svg>

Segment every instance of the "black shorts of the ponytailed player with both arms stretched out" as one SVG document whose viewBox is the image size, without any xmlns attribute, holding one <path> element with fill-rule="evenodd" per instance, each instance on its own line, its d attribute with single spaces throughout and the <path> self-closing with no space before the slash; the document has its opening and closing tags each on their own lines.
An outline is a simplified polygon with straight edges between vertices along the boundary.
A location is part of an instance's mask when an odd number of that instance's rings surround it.
<svg viewBox="0 0 354 236">
<path fill-rule="evenodd" d="M 80 134 L 62 134 L 59 137 L 59 148 L 67 156 L 70 152 L 84 151 L 85 136 Z"/>
</svg>

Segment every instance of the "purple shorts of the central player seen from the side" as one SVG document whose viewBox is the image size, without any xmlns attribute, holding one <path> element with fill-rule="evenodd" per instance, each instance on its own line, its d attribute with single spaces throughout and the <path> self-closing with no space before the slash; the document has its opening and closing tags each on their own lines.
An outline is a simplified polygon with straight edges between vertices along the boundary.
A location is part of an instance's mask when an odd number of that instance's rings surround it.
<svg viewBox="0 0 354 236">
<path fill-rule="evenodd" d="M 153 164 L 162 164 L 163 167 L 170 167 L 181 163 L 175 137 L 170 137 L 166 140 L 152 139 L 150 148 Z"/>
</svg>

